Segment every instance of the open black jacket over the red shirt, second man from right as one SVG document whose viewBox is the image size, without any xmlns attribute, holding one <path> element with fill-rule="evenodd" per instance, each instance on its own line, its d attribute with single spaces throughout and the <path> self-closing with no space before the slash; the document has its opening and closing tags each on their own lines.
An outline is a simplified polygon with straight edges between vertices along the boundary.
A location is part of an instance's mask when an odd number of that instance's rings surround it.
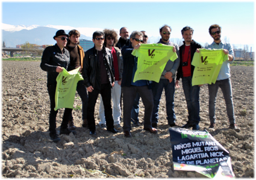
<svg viewBox="0 0 256 180">
<path fill-rule="evenodd" d="M 183 51 L 185 47 L 185 41 L 183 41 L 183 45 L 180 46 L 180 66 L 178 68 L 177 74 L 176 74 L 176 80 L 180 80 L 180 78 L 183 78 Z M 196 41 L 192 40 L 190 44 L 190 52 L 191 52 L 191 62 L 193 61 L 194 53 L 196 52 L 196 49 L 204 48 L 201 46 L 201 44 L 196 43 Z M 188 64 L 189 65 L 189 64 Z M 190 64 L 191 65 L 191 64 Z M 195 66 L 191 65 L 191 76 L 193 76 Z"/>
</svg>

